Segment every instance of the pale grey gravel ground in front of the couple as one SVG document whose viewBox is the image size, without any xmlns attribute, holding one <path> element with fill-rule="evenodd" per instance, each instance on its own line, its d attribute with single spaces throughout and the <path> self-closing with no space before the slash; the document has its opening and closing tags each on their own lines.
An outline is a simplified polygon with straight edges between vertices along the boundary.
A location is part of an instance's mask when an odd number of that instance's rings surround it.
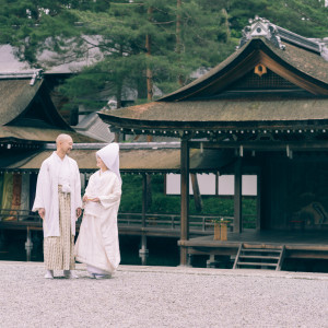
<svg viewBox="0 0 328 328">
<path fill-rule="evenodd" d="M 0 327 L 328 327 L 328 274 L 120 266 L 94 280 L 0 261 Z"/>
</svg>

